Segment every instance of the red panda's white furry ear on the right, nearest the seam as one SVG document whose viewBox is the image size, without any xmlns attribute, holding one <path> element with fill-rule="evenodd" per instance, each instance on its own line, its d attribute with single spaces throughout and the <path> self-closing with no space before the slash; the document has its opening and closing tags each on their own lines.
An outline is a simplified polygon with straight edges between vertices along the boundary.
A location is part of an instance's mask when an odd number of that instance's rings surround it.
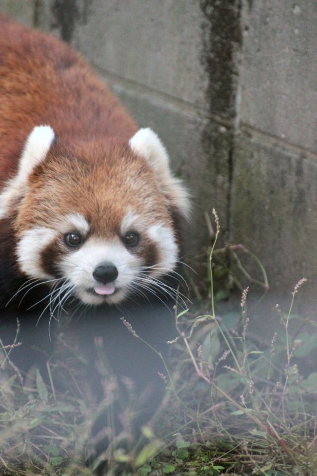
<svg viewBox="0 0 317 476">
<path fill-rule="evenodd" d="M 171 202 L 170 205 L 188 218 L 188 194 L 181 181 L 173 177 L 166 149 L 155 132 L 148 127 L 142 128 L 130 139 L 129 145 L 134 153 L 144 157 L 154 169 L 158 185 Z"/>
</svg>

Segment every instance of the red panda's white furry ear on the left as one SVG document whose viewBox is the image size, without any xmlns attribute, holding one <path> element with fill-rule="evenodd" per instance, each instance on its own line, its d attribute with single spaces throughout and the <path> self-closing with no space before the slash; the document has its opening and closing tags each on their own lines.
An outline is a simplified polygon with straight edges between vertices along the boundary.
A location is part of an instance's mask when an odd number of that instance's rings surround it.
<svg viewBox="0 0 317 476">
<path fill-rule="evenodd" d="M 54 131 L 49 125 L 34 127 L 22 151 L 17 175 L 8 181 L 0 193 L 0 219 L 23 195 L 29 175 L 45 159 L 54 138 Z"/>
</svg>

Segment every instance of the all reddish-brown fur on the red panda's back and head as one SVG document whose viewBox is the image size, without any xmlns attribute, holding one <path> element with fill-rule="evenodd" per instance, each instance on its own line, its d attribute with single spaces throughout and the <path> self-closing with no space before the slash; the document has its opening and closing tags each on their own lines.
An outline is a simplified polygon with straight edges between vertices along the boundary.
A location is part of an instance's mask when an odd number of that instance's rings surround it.
<svg viewBox="0 0 317 476">
<path fill-rule="evenodd" d="M 37 253 L 42 270 L 59 276 L 58 258 L 69 252 L 60 227 L 71 213 L 89 222 L 86 239 L 103 242 L 122 239 L 123 218 L 140 215 L 142 238 L 130 251 L 144 266 L 161 259 L 160 237 L 154 242 L 147 234 L 152 226 L 173 229 L 179 245 L 178 206 L 151 164 L 128 145 L 138 128 L 119 100 L 68 45 L 0 15 L 0 191 L 16 175 L 23 146 L 39 125 L 51 126 L 57 140 L 0 220 L 0 301 L 29 277 L 17 264 L 25 230 L 58 232 Z"/>
</svg>

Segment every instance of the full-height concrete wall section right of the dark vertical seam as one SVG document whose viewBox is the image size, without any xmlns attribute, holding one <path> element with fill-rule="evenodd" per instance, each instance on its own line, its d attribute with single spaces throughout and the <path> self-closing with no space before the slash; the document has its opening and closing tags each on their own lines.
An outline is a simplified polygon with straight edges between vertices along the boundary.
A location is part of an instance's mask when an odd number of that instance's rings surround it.
<svg viewBox="0 0 317 476">
<path fill-rule="evenodd" d="M 273 288 L 316 293 L 317 2 L 245 1 L 241 21 L 232 240 Z"/>
</svg>

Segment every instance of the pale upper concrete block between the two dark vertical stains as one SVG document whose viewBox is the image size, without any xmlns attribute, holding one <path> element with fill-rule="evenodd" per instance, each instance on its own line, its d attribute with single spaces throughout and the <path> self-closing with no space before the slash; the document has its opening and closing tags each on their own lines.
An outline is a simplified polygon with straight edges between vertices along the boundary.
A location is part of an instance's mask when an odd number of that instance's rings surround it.
<svg viewBox="0 0 317 476">
<path fill-rule="evenodd" d="M 208 107 L 197 1 L 55 1 L 61 36 L 106 72 Z M 64 2 L 67 3 L 67 2 Z"/>
</svg>

